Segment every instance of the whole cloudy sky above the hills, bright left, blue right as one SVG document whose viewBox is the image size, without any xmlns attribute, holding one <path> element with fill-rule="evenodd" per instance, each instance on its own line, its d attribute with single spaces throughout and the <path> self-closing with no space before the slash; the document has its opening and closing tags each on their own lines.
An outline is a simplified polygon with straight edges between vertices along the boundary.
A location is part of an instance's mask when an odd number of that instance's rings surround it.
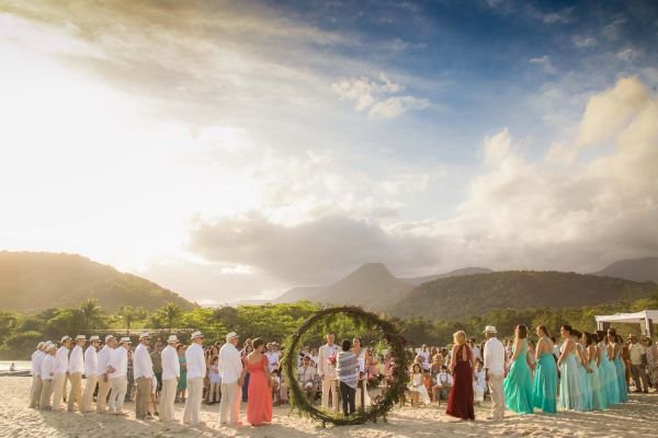
<svg viewBox="0 0 658 438">
<path fill-rule="evenodd" d="M 207 306 L 658 255 L 651 0 L 0 0 L 0 250 Z"/>
</svg>

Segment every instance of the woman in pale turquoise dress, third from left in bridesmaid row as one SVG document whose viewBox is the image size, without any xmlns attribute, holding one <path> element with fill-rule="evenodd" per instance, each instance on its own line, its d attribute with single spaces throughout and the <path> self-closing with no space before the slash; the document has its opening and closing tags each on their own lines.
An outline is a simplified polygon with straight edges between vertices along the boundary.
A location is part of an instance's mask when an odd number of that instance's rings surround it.
<svg viewBox="0 0 658 438">
<path fill-rule="evenodd" d="M 582 411 L 579 377 L 578 377 L 578 351 L 576 343 L 571 339 L 574 328 L 563 325 L 559 334 L 565 342 L 560 347 L 559 359 L 559 407 L 567 411 Z"/>
</svg>

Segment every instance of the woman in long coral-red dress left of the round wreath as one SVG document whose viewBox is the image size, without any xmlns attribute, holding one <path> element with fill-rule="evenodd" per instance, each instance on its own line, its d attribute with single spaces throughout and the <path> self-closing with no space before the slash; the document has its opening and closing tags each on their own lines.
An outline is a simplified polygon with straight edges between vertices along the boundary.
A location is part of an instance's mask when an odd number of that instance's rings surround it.
<svg viewBox="0 0 658 438">
<path fill-rule="evenodd" d="M 251 342 L 253 351 L 245 357 L 242 374 L 249 372 L 249 394 L 247 402 L 247 420 L 251 426 L 272 423 L 272 383 L 270 362 L 263 349 L 265 343 L 260 337 Z"/>
</svg>

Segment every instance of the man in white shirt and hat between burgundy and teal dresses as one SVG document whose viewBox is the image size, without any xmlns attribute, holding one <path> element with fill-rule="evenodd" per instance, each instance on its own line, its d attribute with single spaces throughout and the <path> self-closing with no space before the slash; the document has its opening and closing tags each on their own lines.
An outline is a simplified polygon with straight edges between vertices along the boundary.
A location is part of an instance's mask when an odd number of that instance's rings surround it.
<svg viewBox="0 0 658 438">
<path fill-rule="evenodd" d="M 487 325 L 485 335 L 485 380 L 491 393 L 491 416 L 487 419 L 502 419 L 504 416 L 504 394 L 502 382 L 504 380 L 506 353 L 504 345 L 497 337 L 496 327 Z"/>
</svg>

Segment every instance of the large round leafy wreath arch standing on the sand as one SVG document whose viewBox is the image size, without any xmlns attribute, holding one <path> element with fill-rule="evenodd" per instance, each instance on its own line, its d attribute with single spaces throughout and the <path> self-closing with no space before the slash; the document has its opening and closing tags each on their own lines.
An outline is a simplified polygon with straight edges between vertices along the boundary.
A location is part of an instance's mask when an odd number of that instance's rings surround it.
<svg viewBox="0 0 658 438">
<path fill-rule="evenodd" d="M 393 381 L 390 381 L 384 395 L 368 407 L 364 408 L 361 406 L 354 416 L 348 418 L 339 414 L 324 412 L 309 403 L 306 393 L 299 387 L 296 372 L 297 353 L 299 350 L 298 343 L 302 336 L 318 321 L 331 320 L 340 314 L 351 316 L 358 324 L 368 330 L 381 332 L 390 348 L 389 350 L 395 364 L 393 368 Z M 368 420 L 376 423 L 377 418 L 386 422 L 388 411 L 404 397 L 407 383 L 409 382 L 409 374 L 407 373 L 409 357 L 405 350 L 406 341 L 398 333 L 397 326 L 393 322 L 382 319 L 375 313 L 366 312 L 359 307 L 352 306 L 319 310 L 302 324 L 299 330 L 287 339 L 285 345 L 286 354 L 283 359 L 283 370 L 287 382 L 290 382 L 291 408 L 298 411 L 300 415 L 321 422 L 322 426 L 326 426 L 327 423 L 336 426 L 358 425 Z"/>
</svg>

